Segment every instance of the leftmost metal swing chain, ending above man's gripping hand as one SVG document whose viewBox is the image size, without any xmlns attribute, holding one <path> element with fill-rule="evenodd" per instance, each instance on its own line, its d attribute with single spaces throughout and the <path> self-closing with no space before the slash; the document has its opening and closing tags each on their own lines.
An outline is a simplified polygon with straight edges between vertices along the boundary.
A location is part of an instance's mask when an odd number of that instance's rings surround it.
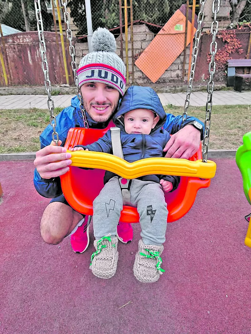
<svg viewBox="0 0 251 334">
<path fill-rule="evenodd" d="M 41 64 L 42 64 L 42 69 L 45 75 L 45 89 L 48 94 L 47 105 L 48 105 L 48 109 L 50 110 L 50 124 L 53 127 L 52 140 L 54 141 L 54 143 L 56 143 L 56 145 L 58 145 L 59 136 L 58 136 L 58 133 L 56 132 L 57 121 L 56 121 L 56 117 L 54 116 L 54 102 L 51 96 L 52 85 L 51 85 L 51 81 L 49 78 L 49 66 L 48 66 L 48 61 L 47 61 L 47 56 L 46 56 L 46 44 L 45 44 L 45 36 L 44 36 L 43 19 L 41 15 L 40 0 L 34 0 L 34 5 L 35 5 L 38 39 L 39 39 L 39 50 L 40 50 L 40 55 L 42 59 Z"/>
</svg>

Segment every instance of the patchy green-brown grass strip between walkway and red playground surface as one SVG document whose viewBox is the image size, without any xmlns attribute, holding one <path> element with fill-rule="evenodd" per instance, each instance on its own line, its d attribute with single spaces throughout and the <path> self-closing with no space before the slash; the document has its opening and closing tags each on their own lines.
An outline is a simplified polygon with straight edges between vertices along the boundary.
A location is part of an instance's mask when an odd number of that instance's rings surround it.
<svg viewBox="0 0 251 334">
<path fill-rule="evenodd" d="M 165 111 L 182 115 L 183 107 L 168 105 Z M 58 115 L 62 108 L 55 108 Z M 188 115 L 204 122 L 205 107 L 189 107 Z M 49 124 L 45 109 L 0 109 L 0 153 L 32 152 L 40 148 L 39 135 Z M 251 106 L 213 106 L 210 149 L 237 149 L 251 131 Z"/>
</svg>

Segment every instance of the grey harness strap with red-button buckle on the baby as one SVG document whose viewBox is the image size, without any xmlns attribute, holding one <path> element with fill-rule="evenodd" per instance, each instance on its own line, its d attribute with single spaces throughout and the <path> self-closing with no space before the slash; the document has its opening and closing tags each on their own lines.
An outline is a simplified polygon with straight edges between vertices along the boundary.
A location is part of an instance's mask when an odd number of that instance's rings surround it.
<svg viewBox="0 0 251 334">
<path fill-rule="evenodd" d="M 121 140 L 120 140 L 120 129 L 118 127 L 113 127 L 111 130 L 111 145 L 112 145 L 112 152 L 113 155 L 124 159 L 123 152 L 122 152 L 122 146 L 121 146 Z M 126 183 L 122 183 L 121 180 L 125 181 Z M 121 192 L 122 192 L 122 198 L 123 198 L 123 205 L 129 205 L 131 203 L 131 195 L 129 191 L 129 186 L 131 184 L 131 180 L 124 179 L 123 177 L 118 178 L 118 182 L 120 184 Z"/>
</svg>

